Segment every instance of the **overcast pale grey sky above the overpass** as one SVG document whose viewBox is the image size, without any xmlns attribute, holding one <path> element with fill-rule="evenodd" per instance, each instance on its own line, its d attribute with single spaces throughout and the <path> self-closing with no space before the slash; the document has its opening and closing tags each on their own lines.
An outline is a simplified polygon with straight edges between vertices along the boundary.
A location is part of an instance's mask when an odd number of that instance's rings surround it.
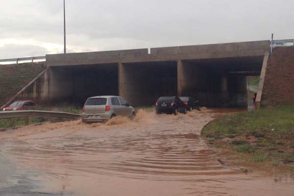
<svg viewBox="0 0 294 196">
<path fill-rule="evenodd" d="M 0 58 L 63 52 L 63 0 L 0 0 Z M 66 0 L 67 52 L 294 39 L 294 0 Z"/>
</svg>

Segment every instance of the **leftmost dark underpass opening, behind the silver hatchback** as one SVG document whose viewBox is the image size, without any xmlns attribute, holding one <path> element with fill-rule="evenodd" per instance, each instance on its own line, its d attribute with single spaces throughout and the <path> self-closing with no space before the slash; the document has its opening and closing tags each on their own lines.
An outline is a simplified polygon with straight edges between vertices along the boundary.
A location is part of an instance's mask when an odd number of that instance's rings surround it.
<svg viewBox="0 0 294 196">
<path fill-rule="evenodd" d="M 50 99 L 83 105 L 93 96 L 118 95 L 118 64 L 50 67 Z"/>
</svg>

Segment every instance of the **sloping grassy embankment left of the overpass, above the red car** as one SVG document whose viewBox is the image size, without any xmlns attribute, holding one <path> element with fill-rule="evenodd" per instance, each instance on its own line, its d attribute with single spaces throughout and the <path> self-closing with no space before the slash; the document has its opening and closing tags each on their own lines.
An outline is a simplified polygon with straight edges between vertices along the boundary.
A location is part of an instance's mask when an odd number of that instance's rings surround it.
<svg viewBox="0 0 294 196">
<path fill-rule="evenodd" d="M 45 69 L 45 63 L 0 66 L 0 106 Z"/>
</svg>

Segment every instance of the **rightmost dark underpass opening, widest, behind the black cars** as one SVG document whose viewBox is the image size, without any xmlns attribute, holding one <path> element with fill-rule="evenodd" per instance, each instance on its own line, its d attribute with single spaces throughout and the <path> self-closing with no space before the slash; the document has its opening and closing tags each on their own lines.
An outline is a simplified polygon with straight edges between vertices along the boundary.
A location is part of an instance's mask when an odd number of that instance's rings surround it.
<svg viewBox="0 0 294 196">
<path fill-rule="evenodd" d="M 178 94 L 211 107 L 247 107 L 247 76 L 261 72 L 263 56 L 178 62 Z"/>
</svg>

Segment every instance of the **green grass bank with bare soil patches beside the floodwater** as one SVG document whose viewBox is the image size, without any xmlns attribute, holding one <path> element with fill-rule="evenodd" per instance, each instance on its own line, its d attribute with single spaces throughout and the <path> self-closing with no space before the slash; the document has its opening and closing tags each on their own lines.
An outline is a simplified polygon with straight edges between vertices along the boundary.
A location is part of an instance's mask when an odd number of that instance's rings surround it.
<svg viewBox="0 0 294 196">
<path fill-rule="evenodd" d="M 252 162 L 294 164 L 294 106 L 224 115 L 207 124 L 202 135 Z"/>
</svg>

